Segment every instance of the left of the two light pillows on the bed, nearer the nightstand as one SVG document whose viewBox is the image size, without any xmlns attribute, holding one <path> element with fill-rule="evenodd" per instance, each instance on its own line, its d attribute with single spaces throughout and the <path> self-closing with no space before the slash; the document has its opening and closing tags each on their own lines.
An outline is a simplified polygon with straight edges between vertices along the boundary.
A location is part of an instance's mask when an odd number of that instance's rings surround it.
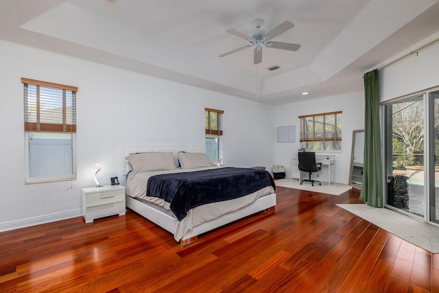
<svg viewBox="0 0 439 293">
<path fill-rule="evenodd" d="M 176 169 L 174 156 L 171 152 L 141 152 L 126 156 L 132 165 L 133 172 L 160 171 Z"/>
</svg>

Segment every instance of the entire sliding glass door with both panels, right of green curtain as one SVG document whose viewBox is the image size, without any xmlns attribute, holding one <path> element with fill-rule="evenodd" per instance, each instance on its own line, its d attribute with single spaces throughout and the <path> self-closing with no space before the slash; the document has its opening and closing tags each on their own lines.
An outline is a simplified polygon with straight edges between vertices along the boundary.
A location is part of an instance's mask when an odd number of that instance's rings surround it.
<svg viewBox="0 0 439 293">
<path fill-rule="evenodd" d="M 385 204 L 439 224 L 439 91 L 385 104 Z"/>
</svg>

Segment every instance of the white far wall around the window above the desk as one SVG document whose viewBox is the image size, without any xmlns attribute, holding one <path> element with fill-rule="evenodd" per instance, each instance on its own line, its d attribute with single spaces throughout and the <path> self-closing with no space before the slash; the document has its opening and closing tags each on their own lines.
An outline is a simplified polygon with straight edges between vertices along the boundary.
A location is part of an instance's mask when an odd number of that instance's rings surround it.
<svg viewBox="0 0 439 293">
<path fill-rule="evenodd" d="M 361 76 L 359 76 L 361 78 Z M 277 126 L 296 126 L 296 142 L 275 143 L 276 165 L 285 165 L 287 176 L 291 176 L 290 159 L 296 155 L 300 148 L 298 116 L 327 112 L 342 111 L 342 151 L 335 154 L 335 182 L 348 184 L 351 165 L 352 134 L 353 130 L 364 129 L 364 93 L 349 93 L 312 99 L 310 101 L 296 102 L 276 106 L 275 124 Z M 322 170 L 323 172 L 323 170 Z M 327 176 L 322 174 L 322 176 Z M 326 177 L 323 177 L 326 178 Z"/>
</svg>

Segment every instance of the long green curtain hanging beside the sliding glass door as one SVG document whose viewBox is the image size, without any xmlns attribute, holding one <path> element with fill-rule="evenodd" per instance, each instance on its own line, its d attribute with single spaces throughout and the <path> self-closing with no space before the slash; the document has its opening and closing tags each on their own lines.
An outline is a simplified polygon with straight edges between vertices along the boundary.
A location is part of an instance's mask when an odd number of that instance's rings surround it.
<svg viewBox="0 0 439 293">
<path fill-rule="evenodd" d="M 364 74 L 364 166 L 360 200 L 383 207 L 378 70 Z"/>
</svg>

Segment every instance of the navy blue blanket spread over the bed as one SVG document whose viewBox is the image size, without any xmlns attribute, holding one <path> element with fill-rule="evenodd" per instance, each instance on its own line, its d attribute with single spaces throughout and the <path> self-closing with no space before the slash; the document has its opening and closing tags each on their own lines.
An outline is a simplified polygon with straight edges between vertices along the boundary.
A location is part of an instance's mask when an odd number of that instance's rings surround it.
<svg viewBox="0 0 439 293">
<path fill-rule="evenodd" d="M 224 167 L 152 176 L 146 194 L 169 202 L 169 208 L 180 221 L 194 207 L 246 196 L 270 185 L 276 188 L 265 170 Z"/>
</svg>

